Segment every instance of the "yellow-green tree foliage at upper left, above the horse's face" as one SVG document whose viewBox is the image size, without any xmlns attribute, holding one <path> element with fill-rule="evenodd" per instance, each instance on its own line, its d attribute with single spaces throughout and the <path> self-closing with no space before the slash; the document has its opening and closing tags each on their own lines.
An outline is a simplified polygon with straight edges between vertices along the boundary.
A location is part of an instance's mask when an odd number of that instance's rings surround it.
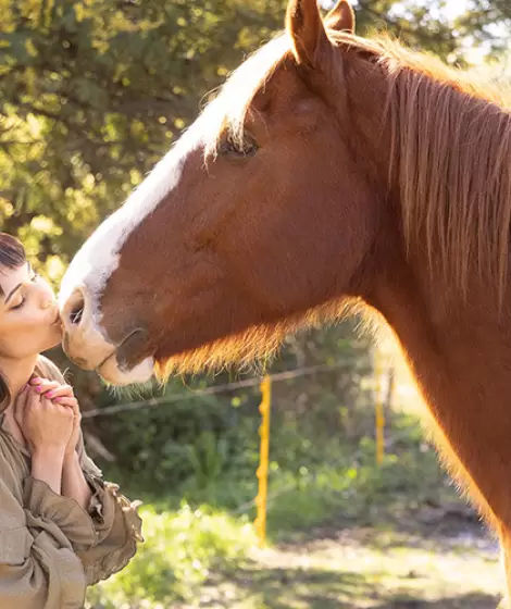
<svg viewBox="0 0 511 609">
<path fill-rule="evenodd" d="M 204 94 L 281 25 L 283 8 L 0 1 L 3 228 L 41 264 L 48 256 L 66 262 L 195 117 Z M 46 266 L 58 281 L 62 268 Z"/>
</svg>

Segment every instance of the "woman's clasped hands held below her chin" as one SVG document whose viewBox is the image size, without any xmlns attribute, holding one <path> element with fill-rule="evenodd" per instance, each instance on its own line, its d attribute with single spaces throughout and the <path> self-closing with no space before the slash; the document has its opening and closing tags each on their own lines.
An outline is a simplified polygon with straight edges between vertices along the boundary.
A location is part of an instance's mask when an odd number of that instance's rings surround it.
<svg viewBox="0 0 511 609">
<path fill-rule="evenodd" d="M 33 456 L 38 452 L 65 453 L 73 434 L 71 408 L 52 401 L 27 385 L 14 409 L 14 419 Z"/>
</svg>

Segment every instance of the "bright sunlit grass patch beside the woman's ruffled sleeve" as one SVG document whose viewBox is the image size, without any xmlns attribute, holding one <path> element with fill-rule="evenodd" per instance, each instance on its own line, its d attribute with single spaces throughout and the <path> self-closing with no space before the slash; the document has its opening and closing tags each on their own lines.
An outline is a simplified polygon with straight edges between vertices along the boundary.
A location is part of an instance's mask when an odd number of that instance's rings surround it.
<svg viewBox="0 0 511 609">
<path fill-rule="evenodd" d="M 189 599 L 211 571 L 228 569 L 256 544 L 252 526 L 207 508 L 176 512 L 140 509 L 146 542 L 126 569 L 90 588 L 87 609 L 120 609 Z M 151 604 L 151 605 L 149 605 Z M 160 605 L 161 606 L 161 605 Z"/>
</svg>

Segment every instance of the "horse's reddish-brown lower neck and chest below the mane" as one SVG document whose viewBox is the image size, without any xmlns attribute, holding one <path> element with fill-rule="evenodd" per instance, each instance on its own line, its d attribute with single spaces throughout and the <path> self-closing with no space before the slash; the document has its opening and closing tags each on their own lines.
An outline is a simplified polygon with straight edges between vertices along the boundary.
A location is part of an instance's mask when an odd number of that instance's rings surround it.
<svg viewBox="0 0 511 609">
<path fill-rule="evenodd" d="M 484 290 L 445 298 L 406 264 L 392 276 L 369 300 L 399 338 L 440 451 L 483 513 L 511 524 L 511 313 Z"/>
</svg>

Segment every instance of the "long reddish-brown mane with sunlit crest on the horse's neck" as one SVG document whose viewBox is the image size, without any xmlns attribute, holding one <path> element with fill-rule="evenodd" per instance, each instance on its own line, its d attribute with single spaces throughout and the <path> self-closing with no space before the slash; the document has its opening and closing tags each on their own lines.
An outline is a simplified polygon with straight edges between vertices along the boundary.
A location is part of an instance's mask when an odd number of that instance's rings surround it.
<svg viewBox="0 0 511 609">
<path fill-rule="evenodd" d="M 464 297 L 476 273 L 501 304 L 511 222 L 509 85 L 388 37 L 356 45 L 376 52 L 388 71 L 389 176 L 397 177 L 408 252 L 424 248 L 429 270 Z"/>
</svg>

